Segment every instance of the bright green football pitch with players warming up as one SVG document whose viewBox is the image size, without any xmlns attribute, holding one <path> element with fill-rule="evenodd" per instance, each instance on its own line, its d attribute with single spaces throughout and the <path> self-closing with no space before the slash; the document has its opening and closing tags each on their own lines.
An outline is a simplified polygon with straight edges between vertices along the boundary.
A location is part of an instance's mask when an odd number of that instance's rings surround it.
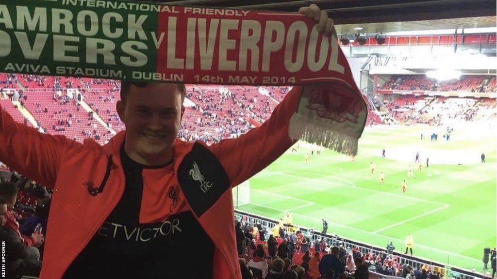
<svg viewBox="0 0 497 279">
<path fill-rule="evenodd" d="M 289 211 L 295 224 L 319 230 L 324 218 L 328 233 L 381 247 L 393 241 L 396 251 L 403 252 L 411 233 L 414 255 L 482 271 L 483 248 L 496 246 L 495 128 L 458 127 L 449 142 L 443 130 L 367 128 L 355 162 L 330 150 L 317 155 L 317 147 L 300 143 L 297 152 L 288 150 L 250 179 L 250 204 L 239 209 L 270 218 Z M 429 139 L 433 132 L 438 132 L 436 142 Z M 309 163 L 304 162 L 307 152 Z M 416 152 L 421 171 L 414 163 Z M 370 162 L 376 165 L 374 175 Z M 408 179 L 410 165 L 415 178 Z M 378 183 L 380 172 L 386 177 L 383 185 Z M 401 190 L 404 179 L 406 194 Z"/>
</svg>

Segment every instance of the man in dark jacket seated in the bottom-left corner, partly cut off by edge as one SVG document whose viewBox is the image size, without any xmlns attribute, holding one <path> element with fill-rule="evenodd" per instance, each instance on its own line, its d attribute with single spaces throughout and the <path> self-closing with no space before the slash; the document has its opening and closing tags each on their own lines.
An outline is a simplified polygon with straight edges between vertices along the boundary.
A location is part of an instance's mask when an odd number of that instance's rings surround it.
<svg viewBox="0 0 497 279">
<path fill-rule="evenodd" d="M 7 223 L 7 202 L 0 199 L 0 239 L 5 242 L 5 276 L 6 278 L 17 278 L 20 275 L 39 276 L 41 262 L 32 259 L 28 247 L 26 247 L 19 236 Z"/>
</svg>

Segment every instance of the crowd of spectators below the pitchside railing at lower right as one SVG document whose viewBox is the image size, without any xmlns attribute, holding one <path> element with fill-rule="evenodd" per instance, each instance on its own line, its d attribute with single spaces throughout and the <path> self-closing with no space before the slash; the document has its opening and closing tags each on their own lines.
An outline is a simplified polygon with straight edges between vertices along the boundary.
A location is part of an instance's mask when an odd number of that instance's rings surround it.
<svg viewBox="0 0 497 279">
<path fill-rule="evenodd" d="M 367 279 L 370 271 L 407 279 L 443 279 L 431 266 L 414 269 L 389 252 L 362 254 L 357 247 L 330 247 L 324 238 L 312 241 L 303 231 L 280 227 L 276 234 L 243 220 L 236 221 L 235 228 L 244 279 Z"/>
</svg>

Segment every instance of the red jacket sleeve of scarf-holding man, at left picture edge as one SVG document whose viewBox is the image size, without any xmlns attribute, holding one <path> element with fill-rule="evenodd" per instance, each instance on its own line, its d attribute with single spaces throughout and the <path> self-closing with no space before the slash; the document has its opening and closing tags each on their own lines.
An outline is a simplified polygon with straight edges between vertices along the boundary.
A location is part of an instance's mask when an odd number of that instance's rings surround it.
<svg viewBox="0 0 497 279">
<path fill-rule="evenodd" d="M 43 186 L 54 187 L 61 154 L 72 142 L 17 123 L 0 106 L 0 161 Z"/>
</svg>

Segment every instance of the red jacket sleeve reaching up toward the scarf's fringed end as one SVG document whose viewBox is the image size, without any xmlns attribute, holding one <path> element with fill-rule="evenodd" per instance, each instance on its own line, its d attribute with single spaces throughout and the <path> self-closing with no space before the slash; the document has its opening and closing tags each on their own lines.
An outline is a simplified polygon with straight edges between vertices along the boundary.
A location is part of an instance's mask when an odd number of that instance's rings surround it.
<svg viewBox="0 0 497 279">
<path fill-rule="evenodd" d="M 261 126 L 237 139 L 223 139 L 209 147 L 227 172 L 232 187 L 267 167 L 295 142 L 288 136 L 288 124 L 297 109 L 301 88 L 294 86 Z"/>
</svg>

